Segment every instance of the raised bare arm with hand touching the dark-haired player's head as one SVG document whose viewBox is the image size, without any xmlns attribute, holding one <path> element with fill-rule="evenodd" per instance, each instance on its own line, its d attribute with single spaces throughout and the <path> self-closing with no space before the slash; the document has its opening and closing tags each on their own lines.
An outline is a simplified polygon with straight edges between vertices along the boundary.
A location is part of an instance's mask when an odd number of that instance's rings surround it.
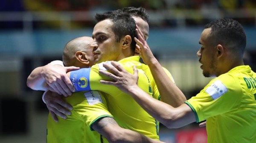
<svg viewBox="0 0 256 143">
<path fill-rule="evenodd" d="M 147 42 L 140 29 L 137 26 L 138 38 L 135 38 L 137 42 L 137 48 L 140 48 L 140 55 L 143 58 L 143 62 L 150 68 L 151 74 L 157 84 L 157 88 L 160 92 L 163 102 L 172 105 L 173 107 L 179 107 L 186 101 L 185 95 L 180 89 L 169 79 L 160 63 L 154 57 Z"/>
</svg>

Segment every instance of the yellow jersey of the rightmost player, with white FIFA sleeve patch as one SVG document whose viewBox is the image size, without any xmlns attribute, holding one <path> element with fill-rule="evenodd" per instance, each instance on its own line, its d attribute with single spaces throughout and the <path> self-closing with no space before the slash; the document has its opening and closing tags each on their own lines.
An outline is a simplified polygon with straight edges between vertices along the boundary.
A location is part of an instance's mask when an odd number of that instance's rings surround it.
<svg viewBox="0 0 256 143">
<path fill-rule="evenodd" d="M 185 102 L 197 122 L 207 119 L 207 143 L 255 143 L 256 73 L 238 66 Z"/>
</svg>

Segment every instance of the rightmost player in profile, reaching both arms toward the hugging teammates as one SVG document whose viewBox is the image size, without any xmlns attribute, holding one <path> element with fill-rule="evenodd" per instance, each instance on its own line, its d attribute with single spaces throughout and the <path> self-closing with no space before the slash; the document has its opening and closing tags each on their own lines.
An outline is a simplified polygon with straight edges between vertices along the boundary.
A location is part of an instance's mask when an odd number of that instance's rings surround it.
<svg viewBox="0 0 256 143">
<path fill-rule="evenodd" d="M 137 27 L 138 28 L 138 27 Z M 142 33 L 137 29 L 143 61 L 150 67 L 157 83 L 172 95 L 183 93 L 170 81 L 154 58 Z M 137 70 L 131 75 L 117 62 L 104 64 L 112 73 L 100 71 L 115 85 L 131 95 L 150 115 L 168 128 L 179 128 L 206 120 L 207 143 L 255 143 L 256 141 L 256 73 L 244 65 L 246 35 L 239 22 L 220 19 L 205 26 L 199 39 L 197 56 L 206 77 L 215 76 L 198 95 L 174 108 L 149 97 L 137 86 Z"/>
</svg>

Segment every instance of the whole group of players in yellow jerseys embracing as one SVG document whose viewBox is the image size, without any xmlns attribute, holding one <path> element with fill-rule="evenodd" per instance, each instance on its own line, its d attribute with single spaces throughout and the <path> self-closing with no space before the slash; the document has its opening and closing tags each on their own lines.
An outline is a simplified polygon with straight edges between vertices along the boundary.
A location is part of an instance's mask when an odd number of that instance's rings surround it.
<svg viewBox="0 0 256 143">
<path fill-rule="evenodd" d="M 27 79 L 33 90 L 46 90 L 47 143 L 161 143 L 158 121 L 179 128 L 204 120 L 207 143 L 255 142 L 256 73 L 244 65 L 239 22 L 205 26 L 197 56 L 203 75 L 215 78 L 186 100 L 146 42 L 144 8 L 95 18 L 92 38 L 71 40 L 63 62 L 37 67 Z"/>
</svg>

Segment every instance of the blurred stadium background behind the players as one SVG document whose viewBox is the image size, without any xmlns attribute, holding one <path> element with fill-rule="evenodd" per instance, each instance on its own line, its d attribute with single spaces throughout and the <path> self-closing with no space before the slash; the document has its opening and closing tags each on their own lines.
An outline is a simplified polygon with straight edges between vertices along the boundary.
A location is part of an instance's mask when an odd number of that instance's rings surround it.
<svg viewBox="0 0 256 143">
<path fill-rule="evenodd" d="M 46 143 L 48 110 L 41 91 L 26 87 L 38 66 L 61 59 L 64 45 L 91 36 L 94 14 L 143 6 L 150 15 L 148 44 L 169 69 L 187 98 L 210 79 L 196 57 L 204 25 L 218 18 L 238 20 L 247 34 L 246 64 L 256 65 L 255 0 L 1 0 L 0 1 L 0 142 Z M 206 143 L 205 128 L 160 126 L 167 143 Z"/>
</svg>

